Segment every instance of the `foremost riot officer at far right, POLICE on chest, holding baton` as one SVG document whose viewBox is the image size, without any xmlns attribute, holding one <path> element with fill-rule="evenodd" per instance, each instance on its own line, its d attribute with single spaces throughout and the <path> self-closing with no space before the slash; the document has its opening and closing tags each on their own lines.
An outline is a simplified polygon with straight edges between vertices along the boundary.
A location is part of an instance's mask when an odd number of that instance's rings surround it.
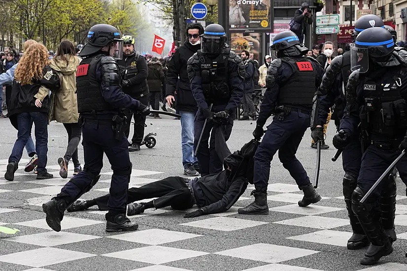
<svg viewBox="0 0 407 271">
<path fill-rule="evenodd" d="M 392 238 L 380 219 L 379 197 L 382 182 L 364 203 L 360 203 L 374 182 L 407 147 L 407 59 L 394 49 L 392 35 L 382 28 L 364 30 L 351 45 L 353 71 L 346 86 L 346 107 L 334 146 L 345 148 L 352 136 L 361 133 L 369 144 L 362 157 L 357 186 L 352 193 L 352 210 L 357 216 L 370 246 L 362 265 L 374 265 L 392 253 Z M 401 176 L 407 175 L 407 158 L 397 165 Z M 405 181 L 405 178 L 403 178 Z"/>
</svg>

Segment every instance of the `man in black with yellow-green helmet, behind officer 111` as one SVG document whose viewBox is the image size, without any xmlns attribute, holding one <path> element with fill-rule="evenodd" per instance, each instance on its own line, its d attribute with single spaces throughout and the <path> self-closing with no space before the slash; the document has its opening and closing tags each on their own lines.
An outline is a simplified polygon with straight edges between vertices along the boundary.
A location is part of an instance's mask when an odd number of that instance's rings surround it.
<svg viewBox="0 0 407 271">
<path fill-rule="evenodd" d="M 123 39 L 123 59 L 118 60 L 120 70 L 123 74 L 123 92 L 130 95 L 133 99 L 138 100 L 142 104 L 148 104 L 148 85 L 147 76 L 148 68 L 147 62 L 140 54 L 137 54 L 134 50 L 134 37 L 131 35 L 124 35 Z M 140 143 L 144 136 L 144 123 L 145 116 L 141 114 L 126 114 L 127 123 L 124 134 L 129 137 L 130 124 L 134 117 L 134 134 L 132 137 L 132 144 L 129 151 L 139 151 Z"/>
</svg>

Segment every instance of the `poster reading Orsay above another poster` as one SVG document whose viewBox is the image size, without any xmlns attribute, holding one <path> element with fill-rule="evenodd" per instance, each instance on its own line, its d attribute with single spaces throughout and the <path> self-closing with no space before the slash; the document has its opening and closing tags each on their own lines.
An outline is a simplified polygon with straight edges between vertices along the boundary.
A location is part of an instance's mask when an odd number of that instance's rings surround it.
<svg viewBox="0 0 407 271">
<path fill-rule="evenodd" d="M 229 0 L 229 30 L 271 32 L 273 8 L 271 0 Z"/>
</svg>

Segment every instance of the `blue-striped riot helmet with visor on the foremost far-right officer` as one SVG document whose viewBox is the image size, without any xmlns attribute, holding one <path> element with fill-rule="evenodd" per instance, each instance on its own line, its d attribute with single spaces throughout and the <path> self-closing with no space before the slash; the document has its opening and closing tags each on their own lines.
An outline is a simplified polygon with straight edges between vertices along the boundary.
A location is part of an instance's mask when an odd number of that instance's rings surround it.
<svg viewBox="0 0 407 271">
<path fill-rule="evenodd" d="M 393 36 L 384 28 L 366 29 L 351 45 L 351 69 L 363 73 L 368 71 L 369 59 L 376 63 L 386 62 L 394 50 Z"/>
</svg>

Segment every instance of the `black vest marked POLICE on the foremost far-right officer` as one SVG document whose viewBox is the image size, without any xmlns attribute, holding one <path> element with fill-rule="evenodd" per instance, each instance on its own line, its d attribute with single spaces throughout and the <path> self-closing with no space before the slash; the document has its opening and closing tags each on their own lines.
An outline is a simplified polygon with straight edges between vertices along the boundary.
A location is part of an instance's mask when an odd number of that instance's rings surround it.
<svg viewBox="0 0 407 271">
<path fill-rule="evenodd" d="M 360 118 L 362 127 L 371 133 L 372 140 L 382 137 L 400 139 L 406 134 L 407 104 L 400 95 L 400 89 L 401 78 L 407 68 L 399 66 L 387 69 L 387 74 L 399 74 L 383 76 L 383 69 L 380 69 L 363 80 L 365 105 L 360 111 Z"/>
</svg>

